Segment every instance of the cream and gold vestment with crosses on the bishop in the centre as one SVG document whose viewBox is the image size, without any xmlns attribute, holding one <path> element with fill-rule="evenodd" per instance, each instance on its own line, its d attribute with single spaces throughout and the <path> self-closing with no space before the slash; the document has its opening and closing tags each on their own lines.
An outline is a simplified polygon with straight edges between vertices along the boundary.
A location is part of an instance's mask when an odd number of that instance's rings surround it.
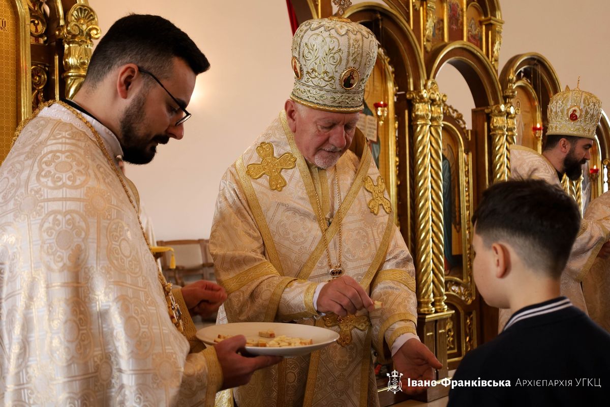
<svg viewBox="0 0 610 407">
<path fill-rule="evenodd" d="M 220 182 L 210 251 L 228 293 L 229 322 L 324 326 L 313 303 L 318 283 L 330 278 L 322 227 L 336 262 L 342 225 L 343 272 L 383 303 L 362 312 L 370 325 L 353 328 L 344 347 L 333 344 L 255 372 L 235 392 L 240 407 L 379 405 L 371 347 L 385 358 L 398 336 L 415 333 L 413 261 L 386 211 L 392 208 L 384 209 L 387 192 L 365 188 L 380 179 L 371 154 L 348 151 L 335 168 L 343 196 L 338 212 L 334 169 L 307 164 L 282 112 Z M 321 212 L 332 217 L 328 228 L 318 219 L 315 192 Z M 337 325 L 331 329 L 340 332 Z"/>
</svg>

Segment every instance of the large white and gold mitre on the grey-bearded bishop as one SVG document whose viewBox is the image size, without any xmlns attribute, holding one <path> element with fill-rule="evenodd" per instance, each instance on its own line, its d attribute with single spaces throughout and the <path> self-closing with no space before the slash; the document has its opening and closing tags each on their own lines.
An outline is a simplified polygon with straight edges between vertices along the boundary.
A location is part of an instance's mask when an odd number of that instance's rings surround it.
<svg viewBox="0 0 610 407">
<path fill-rule="evenodd" d="M 376 59 L 377 39 L 362 24 L 337 16 L 305 21 L 292 40 L 290 98 L 328 112 L 359 112 Z"/>
</svg>

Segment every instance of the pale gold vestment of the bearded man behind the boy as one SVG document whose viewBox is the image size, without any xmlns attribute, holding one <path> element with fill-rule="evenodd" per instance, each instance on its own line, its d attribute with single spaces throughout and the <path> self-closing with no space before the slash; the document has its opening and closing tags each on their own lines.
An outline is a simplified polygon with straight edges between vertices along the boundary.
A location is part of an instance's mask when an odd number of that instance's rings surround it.
<svg viewBox="0 0 610 407">
<path fill-rule="evenodd" d="M 562 188 L 553 165 L 537 151 L 519 145 L 511 147 L 511 179 L 544 179 Z M 560 220 L 558 220 L 560 221 Z M 597 257 L 601 246 L 610 239 L 610 218 L 587 220 L 583 218 L 580 231 L 572 247 L 570 258 L 561 275 L 561 295 L 570 298 L 574 306 L 587 312 L 581 281 Z M 508 309 L 500 309 L 498 330 L 501 331 L 511 317 Z"/>
</svg>

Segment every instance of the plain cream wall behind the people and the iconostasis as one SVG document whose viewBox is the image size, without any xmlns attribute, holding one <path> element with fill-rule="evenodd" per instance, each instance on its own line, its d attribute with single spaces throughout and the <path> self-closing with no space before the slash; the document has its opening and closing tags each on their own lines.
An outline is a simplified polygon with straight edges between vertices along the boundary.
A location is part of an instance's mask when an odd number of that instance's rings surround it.
<svg viewBox="0 0 610 407">
<path fill-rule="evenodd" d="M 218 182 L 224 170 L 282 109 L 292 88 L 292 34 L 285 0 L 89 0 L 102 34 L 129 12 L 162 15 L 187 32 L 212 68 L 198 77 L 185 137 L 159 146 L 151 164 L 130 165 L 157 239 L 209 237 Z M 500 67 L 536 51 L 559 74 L 562 87 L 598 95 L 610 111 L 610 2 L 504 0 Z M 453 70 L 453 71 L 452 71 Z M 465 117 L 474 106 L 454 68 L 439 85 Z"/>
</svg>

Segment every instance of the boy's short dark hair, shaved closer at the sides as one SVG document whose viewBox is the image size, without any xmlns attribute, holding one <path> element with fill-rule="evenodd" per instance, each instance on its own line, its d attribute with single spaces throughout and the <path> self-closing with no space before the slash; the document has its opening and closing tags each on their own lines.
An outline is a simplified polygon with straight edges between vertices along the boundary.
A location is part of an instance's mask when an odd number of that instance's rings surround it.
<svg viewBox="0 0 610 407">
<path fill-rule="evenodd" d="M 486 246 L 506 242 L 529 268 L 559 278 L 580 230 L 576 202 L 540 179 L 498 182 L 472 217 Z"/>
</svg>

